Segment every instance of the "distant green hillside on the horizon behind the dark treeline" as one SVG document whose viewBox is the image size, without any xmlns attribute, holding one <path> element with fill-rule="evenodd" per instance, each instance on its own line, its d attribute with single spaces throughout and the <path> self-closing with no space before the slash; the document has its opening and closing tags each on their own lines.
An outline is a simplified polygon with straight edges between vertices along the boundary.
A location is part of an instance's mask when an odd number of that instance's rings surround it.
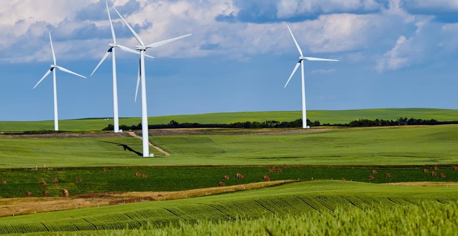
<svg viewBox="0 0 458 236">
<path fill-rule="evenodd" d="M 311 121 L 320 120 L 321 123 L 348 123 L 358 119 L 384 119 L 394 120 L 399 117 L 414 117 L 416 119 L 436 119 L 439 121 L 458 120 L 458 110 L 430 109 L 430 108 L 387 108 L 387 109 L 362 109 L 342 111 L 307 111 Z M 266 120 L 294 121 L 301 117 L 300 111 L 265 111 L 265 112 L 229 112 L 208 113 L 193 115 L 168 115 L 149 117 L 149 124 L 167 124 L 171 120 L 180 123 L 233 123 L 245 121 L 263 122 Z M 122 125 L 136 125 L 141 123 L 140 118 L 120 119 Z M 59 121 L 61 130 L 101 130 L 112 124 L 112 120 L 63 120 Z M 53 121 L 39 122 L 0 122 L 0 131 L 27 131 L 27 130 L 51 130 Z"/>
</svg>

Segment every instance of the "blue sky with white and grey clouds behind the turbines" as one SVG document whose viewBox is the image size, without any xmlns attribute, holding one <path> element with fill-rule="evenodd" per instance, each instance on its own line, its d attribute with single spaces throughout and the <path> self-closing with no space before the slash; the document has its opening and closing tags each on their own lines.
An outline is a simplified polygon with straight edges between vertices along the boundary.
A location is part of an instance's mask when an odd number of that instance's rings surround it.
<svg viewBox="0 0 458 236">
<path fill-rule="evenodd" d="M 458 2 L 450 0 L 150 1 L 112 3 L 149 50 L 148 115 L 300 110 L 300 73 L 283 89 L 298 52 L 308 109 L 458 109 Z M 111 12 L 117 41 L 135 41 Z M 0 121 L 52 120 L 57 64 L 89 75 L 111 42 L 105 1 L 13 0 L 0 9 Z M 120 116 L 134 102 L 138 57 L 117 50 Z M 111 62 L 83 79 L 57 71 L 59 119 L 112 116 Z"/>
</svg>

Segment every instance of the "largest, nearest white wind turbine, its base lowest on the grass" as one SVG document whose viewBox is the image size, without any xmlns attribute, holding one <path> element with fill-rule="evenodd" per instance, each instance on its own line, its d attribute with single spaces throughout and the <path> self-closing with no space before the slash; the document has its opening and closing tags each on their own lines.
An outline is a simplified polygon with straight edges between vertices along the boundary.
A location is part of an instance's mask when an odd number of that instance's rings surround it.
<svg viewBox="0 0 458 236">
<path fill-rule="evenodd" d="M 117 15 L 120 16 L 121 21 L 124 23 L 124 25 L 129 29 L 129 31 L 132 33 L 132 35 L 135 37 L 135 40 L 140 44 L 138 46 L 135 46 L 135 49 L 140 51 L 140 69 L 138 71 L 138 79 L 141 78 L 142 81 L 142 140 L 143 140 L 143 156 L 144 157 L 149 157 L 149 141 L 148 141 L 148 111 L 147 111 L 147 106 L 146 106 L 146 76 L 145 76 L 145 52 L 148 48 L 155 48 L 162 46 L 164 44 L 171 43 L 175 40 L 179 40 L 180 38 L 188 37 L 191 34 L 186 34 L 182 35 L 179 37 L 174 37 L 170 38 L 168 40 L 160 41 L 160 42 L 155 42 L 152 44 L 145 45 L 143 43 L 142 38 L 138 36 L 138 34 L 130 27 L 130 25 L 126 22 L 126 20 L 121 16 L 121 14 L 114 8 L 114 11 L 116 11 Z M 139 80 L 137 80 L 137 90 L 138 90 L 138 83 Z"/>
</svg>

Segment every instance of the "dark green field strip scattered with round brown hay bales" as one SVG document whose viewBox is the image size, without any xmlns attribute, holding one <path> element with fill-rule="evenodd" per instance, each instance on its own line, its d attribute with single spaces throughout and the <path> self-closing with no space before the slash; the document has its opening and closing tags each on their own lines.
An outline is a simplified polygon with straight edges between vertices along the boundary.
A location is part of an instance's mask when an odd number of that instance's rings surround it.
<svg viewBox="0 0 458 236">
<path fill-rule="evenodd" d="M 88 192 L 130 192 L 130 191 L 181 191 L 217 187 L 224 182 L 225 186 L 262 182 L 263 176 L 271 181 L 277 180 L 341 180 L 367 183 L 396 182 L 458 182 L 458 171 L 452 166 L 416 166 L 416 167 L 306 167 L 277 166 L 277 170 L 268 172 L 271 166 L 227 166 L 227 167 L 114 167 L 104 172 L 103 168 L 59 168 L 59 169 L 0 169 L 0 197 L 24 196 L 61 196 L 62 189 L 71 195 Z M 429 172 L 423 172 L 428 168 Z M 372 171 L 376 170 L 377 173 Z M 146 174 L 146 178 L 136 173 Z M 432 176 L 431 172 L 437 175 Z M 242 173 L 243 179 L 236 178 Z M 389 173 L 390 177 L 386 174 Z M 441 178 L 441 174 L 445 174 Z M 228 180 L 223 177 L 229 176 Z M 370 179 L 370 176 L 373 179 Z M 57 179 L 57 183 L 52 180 Z M 77 182 L 81 179 L 82 182 Z M 45 182 L 46 186 L 40 183 Z"/>
</svg>

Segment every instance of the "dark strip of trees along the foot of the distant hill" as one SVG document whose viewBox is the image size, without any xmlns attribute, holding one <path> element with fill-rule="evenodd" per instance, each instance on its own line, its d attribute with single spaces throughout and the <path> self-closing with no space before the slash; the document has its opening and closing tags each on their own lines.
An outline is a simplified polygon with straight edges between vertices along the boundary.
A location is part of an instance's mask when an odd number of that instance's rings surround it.
<svg viewBox="0 0 458 236">
<path fill-rule="evenodd" d="M 307 119 L 307 125 L 311 127 L 317 126 L 337 126 L 337 127 L 376 127 L 376 126 L 404 126 L 404 125 L 450 125 L 458 124 L 458 121 L 436 121 L 422 120 L 422 119 L 407 119 L 399 118 L 397 120 L 367 120 L 360 119 L 351 121 L 347 124 L 321 124 L 320 121 L 311 122 Z M 178 123 L 177 121 L 170 121 L 169 124 L 162 125 L 148 125 L 148 129 L 178 129 L 178 128 L 242 128 L 242 129 L 260 129 L 260 128 L 300 128 L 302 127 L 302 119 L 297 119 L 291 122 L 278 122 L 278 121 L 265 121 L 265 122 L 235 122 L 231 124 L 199 124 L 199 123 Z M 121 125 L 120 129 L 123 130 L 140 130 L 142 123 L 138 125 Z M 113 130 L 113 125 L 108 125 L 103 130 Z"/>
</svg>

